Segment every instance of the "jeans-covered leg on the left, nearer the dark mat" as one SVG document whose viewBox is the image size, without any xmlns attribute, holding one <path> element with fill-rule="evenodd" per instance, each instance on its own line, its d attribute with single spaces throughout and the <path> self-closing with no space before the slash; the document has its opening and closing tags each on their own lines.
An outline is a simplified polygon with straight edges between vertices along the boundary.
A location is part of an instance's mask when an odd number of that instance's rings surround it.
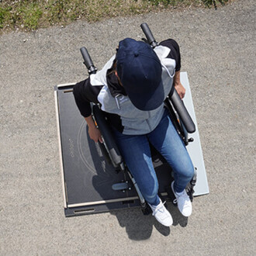
<svg viewBox="0 0 256 256">
<path fill-rule="evenodd" d="M 146 136 L 124 135 L 114 130 L 116 144 L 144 199 L 157 206 L 157 175 L 151 160 L 150 147 Z"/>
</svg>

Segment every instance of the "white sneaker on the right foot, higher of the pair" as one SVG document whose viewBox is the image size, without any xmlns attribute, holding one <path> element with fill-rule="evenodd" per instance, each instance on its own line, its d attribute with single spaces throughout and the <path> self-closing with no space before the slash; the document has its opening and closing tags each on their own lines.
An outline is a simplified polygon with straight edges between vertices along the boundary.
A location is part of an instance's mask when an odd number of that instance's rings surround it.
<svg viewBox="0 0 256 256">
<path fill-rule="evenodd" d="M 192 213 L 192 203 L 189 199 L 189 195 L 185 191 L 185 189 L 181 193 L 176 193 L 174 189 L 175 182 L 171 182 L 172 192 L 175 194 L 175 201 L 178 204 L 178 209 L 182 213 L 183 216 L 189 217 Z"/>
</svg>

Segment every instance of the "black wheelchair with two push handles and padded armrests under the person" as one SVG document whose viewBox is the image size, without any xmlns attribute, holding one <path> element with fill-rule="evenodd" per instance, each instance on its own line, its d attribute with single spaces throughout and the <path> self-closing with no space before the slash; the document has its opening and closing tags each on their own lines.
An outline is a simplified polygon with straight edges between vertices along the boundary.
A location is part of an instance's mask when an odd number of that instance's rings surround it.
<svg viewBox="0 0 256 256">
<path fill-rule="evenodd" d="M 158 43 L 154 39 L 154 36 L 151 33 L 150 28 L 147 26 L 147 23 L 142 23 L 140 27 L 146 36 L 146 39 L 143 38 L 142 40 L 144 40 L 145 43 L 150 44 L 150 47 L 152 48 L 157 47 Z M 97 68 L 93 64 L 92 59 L 88 54 L 88 50 L 85 47 L 81 47 L 80 50 L 81 55 L 84 59 L 84 64 L 88 69 L 88 74 L 95 74 L 97 72 Z M 185 108 L 185 105 L 182 102 L 182 99 L 180 99 L 174 86 L 172 86 L 168 98 L 164 100 L 164 106 L 166 109 L 168 109 L 171 122 L 175 126 L 178 135 L 182 138 L 185 146 L 187 146 L 190 142 L 193 141 L 192 137 L 189 138 L 189 133 L 195 132 L 195 123 L 193 123 L 192 118 L 189 115 L 189 112 Z M 106 161 L 109 164 L 112 164 L 112 166 L 116 169 L 117 173 L 119 171 L 125 171 L 130 177 L 130 180 L 132 181 L 132 184 L 130 184 L 128 181 L 122 181 L 113 184 L 112 189 L 125 192 L 126 190 L 132 189 L 133 186 L 137 191 L 137 196 L 140 200 L 142 212 L 145 215 L 149 214 L 151 212 L 151 209 L 147 205 L 147 202 L 145 201 L 143 195 L 141 194 L 140 189 L 135 179 L 133 178 L 133 175 L 131 175 L 129 169 L 126 167 L 126 164 L 123 161 L 123 157 L 120 154 L 118 147 L 116 146 L 115 138 L 112 135 L 107 115 L 104 111 L 100 109 L 99 105 L 92 104 L 92 118 L 95 121 L 95 126 L 97 126 L 100 132 L 102 133 L 103 144 L 99 144 L 99 147 Z M 154 149 L 152 145 L 150 145 L 150 150 L 152 159 L 156 157 L 161 157 L 161 155 L 157 152 L 157 150 Z M 161 157 L 161 161 L 166 162 L 164 160 L 164 157 Z M 188 193 L 191 201 L 193 200 L 194 186 L 197 178 L 196 176 L 197 174 L 195 168 L 195 175 L 189 182 L 189 184 L 186 186 L 186 192 Z M 168 194 L 168 198 L 171 199 L 171 202 L 173 202 L 173 204 L 176 206 L 175 195 L 173 195 L 173 192 L 171 191 L 171 185 L 166 186 L 165 189 Z M 161 195 L 159 196 L 161 197 Z"/>
</svg>

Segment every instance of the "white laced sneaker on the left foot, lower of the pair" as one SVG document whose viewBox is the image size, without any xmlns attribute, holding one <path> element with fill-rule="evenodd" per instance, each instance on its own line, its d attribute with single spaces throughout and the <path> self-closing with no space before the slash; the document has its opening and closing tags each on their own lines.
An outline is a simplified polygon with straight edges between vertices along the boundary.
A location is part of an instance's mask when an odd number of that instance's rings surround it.
<svg viewBox="0 0 256 256">
<path fill-rule="evenodd" d="M 151 206 L 148 204 L 152 209 L 152 215 L 157 219 L 165 227 L 170 227 L 173 223 L 171 214 L 168 212 L 168 209 L 165 208 L 164 204 L 162 203 L 161 199 L 157 206 Z"/>
</svg>

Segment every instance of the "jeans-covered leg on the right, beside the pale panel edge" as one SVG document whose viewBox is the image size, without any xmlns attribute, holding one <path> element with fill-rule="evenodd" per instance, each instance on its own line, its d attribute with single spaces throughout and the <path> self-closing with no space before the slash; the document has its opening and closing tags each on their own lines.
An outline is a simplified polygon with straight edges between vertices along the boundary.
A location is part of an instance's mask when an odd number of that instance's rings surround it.
<svg viewBox="0 0 256 256">
<path fill-rule="evenodd" d="M 147 137 L 150 143 L 171 165 L 175 174 L 175 192 L 182 192 L 194 175 L 194 167 L 167 111 L 157 128 L 149 133 Z"/>
</svg>

